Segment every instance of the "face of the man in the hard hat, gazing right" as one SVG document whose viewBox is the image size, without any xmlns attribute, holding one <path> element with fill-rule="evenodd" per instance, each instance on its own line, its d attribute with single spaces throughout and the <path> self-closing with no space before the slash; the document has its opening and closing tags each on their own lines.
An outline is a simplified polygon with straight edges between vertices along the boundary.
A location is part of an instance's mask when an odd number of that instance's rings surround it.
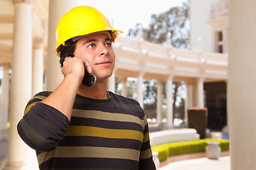
<svg viewBox="0 0 256 170">
<path fill-rule="evenodd" d="M 75 57 L 80 57 L 89 62 L 97 81 L 108 79 L 114 69 L 114 50 L 109 35 L 95 33 L 78 40 Z"/>
</svg>

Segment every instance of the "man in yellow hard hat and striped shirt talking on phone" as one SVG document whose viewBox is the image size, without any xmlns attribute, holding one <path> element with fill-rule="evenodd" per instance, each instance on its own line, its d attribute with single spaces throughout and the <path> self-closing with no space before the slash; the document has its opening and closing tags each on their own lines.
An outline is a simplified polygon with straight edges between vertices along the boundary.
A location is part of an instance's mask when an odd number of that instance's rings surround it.
<svg viewBox="0 0 256 170">
<path fill-rule="evenodd" d="M 143 109 L 107 91 L 119 32 L 88 6 L 60 19 L 56 53 L 65 78 L 55 91 L 31 98 L 18 123 L 40 169 L 156 169 Z M 85 69 L 97 78 L 94 86 L 82 84 Z"/>
</svg>

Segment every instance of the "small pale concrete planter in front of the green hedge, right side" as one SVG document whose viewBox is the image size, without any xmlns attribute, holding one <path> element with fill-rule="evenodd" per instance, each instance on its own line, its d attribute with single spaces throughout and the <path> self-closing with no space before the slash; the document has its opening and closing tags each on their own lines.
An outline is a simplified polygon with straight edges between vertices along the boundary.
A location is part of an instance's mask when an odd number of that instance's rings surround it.
<svg viewBox="0 0 256 170">
<path fill-rule="evenodd" d="M 208 159 L 218 159 L 220 157 L 220 142 L 206 142 L 206 156 Z"/>
</svg>

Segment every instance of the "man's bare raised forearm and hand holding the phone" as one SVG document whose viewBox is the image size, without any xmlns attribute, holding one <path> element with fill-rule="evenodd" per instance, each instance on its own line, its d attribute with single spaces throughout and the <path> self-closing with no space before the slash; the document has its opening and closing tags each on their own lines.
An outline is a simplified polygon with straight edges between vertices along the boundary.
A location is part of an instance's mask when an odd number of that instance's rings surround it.
<svg viewBox="0 0 256 170">
<path fill-rule="evenodd" d="M 89 74 L 92 74 L 92 67 L 87 61 L 80 57 L 66 57 L 61 69 L 65 78 L 42 103 L 56 108 L 70 120 L 75 96 L 85 75 L 85 68 Z"/>
</svg>

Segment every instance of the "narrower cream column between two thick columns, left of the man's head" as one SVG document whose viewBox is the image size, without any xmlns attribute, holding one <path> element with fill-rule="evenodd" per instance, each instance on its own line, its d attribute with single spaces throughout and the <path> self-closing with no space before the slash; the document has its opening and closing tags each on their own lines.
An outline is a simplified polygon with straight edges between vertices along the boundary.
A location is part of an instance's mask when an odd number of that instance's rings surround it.
<svg viewBox="0 0 256 170">
<path fill-rule="evenodd" d="M 33 45 L 32 96 L 43 91 L 43 39 L 36 38 Z"/>
</svg>

